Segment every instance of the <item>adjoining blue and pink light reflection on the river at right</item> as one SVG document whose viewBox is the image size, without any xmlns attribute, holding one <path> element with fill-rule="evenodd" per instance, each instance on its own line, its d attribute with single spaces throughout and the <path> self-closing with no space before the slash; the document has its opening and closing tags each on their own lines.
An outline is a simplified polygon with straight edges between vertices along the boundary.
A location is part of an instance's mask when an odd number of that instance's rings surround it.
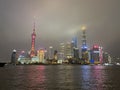
<svg viewBox="0 0 120 90">
<path fill-rule="evenodd" d="M 103 66 L 83 66 L 82 67 L 82 89 L 103 90 L 105 82 Z"/>
</svg>

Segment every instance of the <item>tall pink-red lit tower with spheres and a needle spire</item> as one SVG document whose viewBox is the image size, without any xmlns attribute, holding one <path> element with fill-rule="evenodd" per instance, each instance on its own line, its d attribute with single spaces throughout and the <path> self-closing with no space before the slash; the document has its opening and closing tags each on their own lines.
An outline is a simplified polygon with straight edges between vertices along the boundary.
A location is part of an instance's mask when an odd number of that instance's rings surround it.
<svg viewBox="0 0 120 90">
<path fill-rule="evenodd" d="M 36 38 L 35 23 L 34 23 L 33 33 L 31 35 L 31 37 L 32 37 L 32 42 L 31 42 L 30 57 L 33 57 L 33 56 L 35 56 L 35 38 Z"/>
</svg>

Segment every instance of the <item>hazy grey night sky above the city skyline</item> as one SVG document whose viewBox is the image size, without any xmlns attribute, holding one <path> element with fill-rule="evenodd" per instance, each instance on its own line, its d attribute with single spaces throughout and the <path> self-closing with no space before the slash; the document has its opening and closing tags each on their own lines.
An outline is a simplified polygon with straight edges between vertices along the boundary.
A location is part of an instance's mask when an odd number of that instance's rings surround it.
<svg viewBox="0 0 120 90">
<path fill-rule="evenodd" d="M 33 23 L 36 49 L 59 47 L 87 26 L 87 44 L 103 46 L 120 56 L 120 0 L 0 0 L 0 58 L 10 60 L 13 49 L 30 50 Z"/>
</svg>

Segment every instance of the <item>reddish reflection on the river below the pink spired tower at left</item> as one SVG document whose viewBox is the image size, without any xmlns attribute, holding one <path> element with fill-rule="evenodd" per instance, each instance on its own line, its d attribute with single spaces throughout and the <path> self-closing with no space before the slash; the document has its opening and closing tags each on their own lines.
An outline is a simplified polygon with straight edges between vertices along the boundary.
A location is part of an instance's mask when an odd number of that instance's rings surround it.
<svg viewBox="0 0 120 90">
<path fill-rule="evenodd" d="M 34 66 L 29 68 L 28 72 L 28 87 L 29 89 L 42 89 L 44 90 L 47 86 L 45 84 L 45 66 Z"/>
</svg>

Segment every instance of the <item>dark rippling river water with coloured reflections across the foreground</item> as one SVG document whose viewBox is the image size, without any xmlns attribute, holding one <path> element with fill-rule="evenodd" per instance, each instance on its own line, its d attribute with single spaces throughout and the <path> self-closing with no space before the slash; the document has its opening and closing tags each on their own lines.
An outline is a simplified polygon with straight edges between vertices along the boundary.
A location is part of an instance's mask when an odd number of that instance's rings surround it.
<svg viewBox="0 0 120 90">
<path fill-rule="evenodd" d="M 120 90 L 120 66 L 5 66 L 0 90 Z"/>
</svg>

